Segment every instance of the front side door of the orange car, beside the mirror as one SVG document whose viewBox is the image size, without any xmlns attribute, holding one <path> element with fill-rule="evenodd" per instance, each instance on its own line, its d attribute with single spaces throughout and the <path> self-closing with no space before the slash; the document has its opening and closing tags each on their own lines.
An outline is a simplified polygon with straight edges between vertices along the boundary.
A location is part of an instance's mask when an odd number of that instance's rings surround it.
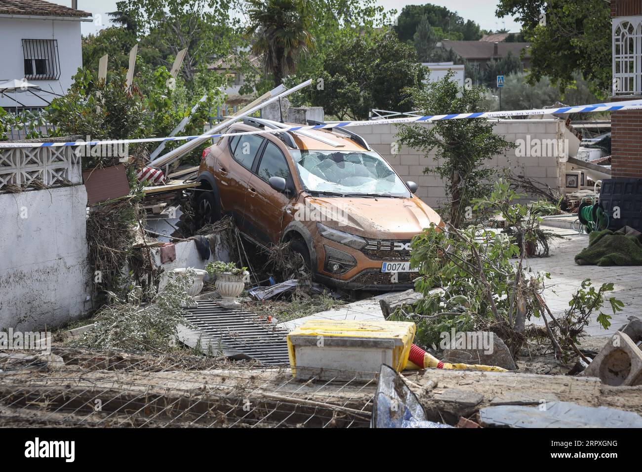
<svg viewBox="0 0 642 472">
<path fill-rule="evenodd" d="M 275 176 L 286 180 L 288 194 L 278 192 L 270 186 L 268 180 Z M 249 231 L 257 241 L 265 244 L 279 242 L 283 212 L 294 193 L 288 161 L 279 146 L 268 140 L 248 182 L 245 205 Z"/>
</svg>

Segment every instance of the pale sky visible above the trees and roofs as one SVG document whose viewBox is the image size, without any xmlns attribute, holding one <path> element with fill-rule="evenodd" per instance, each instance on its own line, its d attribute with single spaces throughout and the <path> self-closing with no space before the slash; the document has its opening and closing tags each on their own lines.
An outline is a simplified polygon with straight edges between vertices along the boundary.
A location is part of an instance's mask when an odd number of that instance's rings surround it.
<svg viewBox="0 0 642 472">
<path fill-rule="evenodd" d="M 71 0 L 49 0 L 64 6 L 71 6 Z M 495 17 L 495 10 L 498 0 L 431 0 L 431 1 L 408 1 L 408 0 L 377 0 L 377 3 L 385 7 L 386 10 L 395 8 L 401 13 L 401 9 L 406 5 L 432 3 L 439 6 L 446 6 L 451 11 L 455 11 L 465 20 L 476 21 L 484 30 L 499 30 L 508 28 L 509 31 L 518 32 L 519 24 L 512 18 L 499 19 Z M 116 10 L 116 0 L 78 0 L 78 8 L 85 12 L 93 13 L 96 17 L 94 22 L 83 22 L 82 33 L 96 33 L 109 26 L 109 17 L 107 12 Z M 100 15 L 100 16 L 98 16 Z"/>
</svg>

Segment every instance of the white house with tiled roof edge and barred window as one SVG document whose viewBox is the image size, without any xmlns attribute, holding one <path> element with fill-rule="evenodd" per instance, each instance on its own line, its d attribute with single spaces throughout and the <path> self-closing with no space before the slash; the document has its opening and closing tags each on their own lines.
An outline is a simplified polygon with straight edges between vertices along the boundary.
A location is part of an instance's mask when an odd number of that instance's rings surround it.
<svg viewBox="0 0 642 472">
<path fill-rule="evenodd" d="M 82 67 L 81 21 L 92 21 L 91 13 L 43 0 L 0 0 L 0 107 L 46 107 L 67 92 Z M 30 86 L 10 87 L 15 80 Z"/>
</svg>

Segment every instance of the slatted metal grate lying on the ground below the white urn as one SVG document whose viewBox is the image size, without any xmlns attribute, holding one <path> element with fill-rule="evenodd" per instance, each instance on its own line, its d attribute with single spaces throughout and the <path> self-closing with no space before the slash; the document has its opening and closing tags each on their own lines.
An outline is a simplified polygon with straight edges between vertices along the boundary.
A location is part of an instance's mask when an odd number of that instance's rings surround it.
<svg viewBox="0 0 642 472">
<path fill-rule="evenodd" d="M 186 318 L 198 332 L 201 345 L 234 359 L 254 359 L 269 365 L 289 364 L 287 331 L 260 324 L 242 308 L 223 308 L 214 300 L 200 300 Z M 270 329 L 268 329 L 268 327 Z"/>
</svg>

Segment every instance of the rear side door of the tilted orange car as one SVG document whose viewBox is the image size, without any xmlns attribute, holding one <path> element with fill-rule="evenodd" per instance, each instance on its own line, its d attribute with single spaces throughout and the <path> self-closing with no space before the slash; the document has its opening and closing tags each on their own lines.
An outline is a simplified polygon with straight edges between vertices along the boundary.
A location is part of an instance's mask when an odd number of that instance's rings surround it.
<svg viewBox="0 0 642 472">
<path fill-rule="evenodd" d="M 234 222 L 242 230 L 245 225 L 243 215 L 248 180 L 263 141 L 265 139 L 257 135 L 234 136 L 229 142 L 231 159 L 220 159 L 215 169 L 221 207 L 226 213 L 232 214 Z"/>
</svg>

